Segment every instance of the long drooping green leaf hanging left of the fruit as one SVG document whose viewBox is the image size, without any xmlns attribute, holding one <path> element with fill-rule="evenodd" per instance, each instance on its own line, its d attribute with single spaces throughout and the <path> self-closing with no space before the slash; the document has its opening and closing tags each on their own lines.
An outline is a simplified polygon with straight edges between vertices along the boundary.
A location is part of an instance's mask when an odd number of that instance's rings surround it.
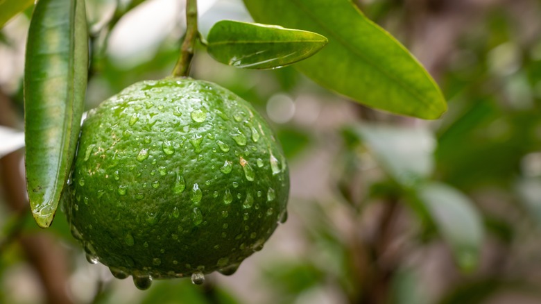
<svg viewBox="0 0 541 304">
<path fill-rule="evenodd" d="M 51 225 L 74 160 L 87 86 L 84 0 L 40 0 L 24 76 L 26 187 L 34 219 Z"/>
</svg>

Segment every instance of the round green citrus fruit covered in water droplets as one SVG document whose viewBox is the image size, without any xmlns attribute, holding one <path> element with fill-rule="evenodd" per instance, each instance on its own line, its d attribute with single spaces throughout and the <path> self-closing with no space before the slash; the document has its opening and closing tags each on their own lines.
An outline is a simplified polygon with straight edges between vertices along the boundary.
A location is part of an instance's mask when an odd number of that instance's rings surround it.
<svg viewBox="0 0 541 304">
<path fill-rule="evenodd" d="M 252 106 L 213 83 L 135 83 L 89 112 L 71 232 L 118 278 L 232 273 L 284 221 L 289 173 Z"/>
</svg>

